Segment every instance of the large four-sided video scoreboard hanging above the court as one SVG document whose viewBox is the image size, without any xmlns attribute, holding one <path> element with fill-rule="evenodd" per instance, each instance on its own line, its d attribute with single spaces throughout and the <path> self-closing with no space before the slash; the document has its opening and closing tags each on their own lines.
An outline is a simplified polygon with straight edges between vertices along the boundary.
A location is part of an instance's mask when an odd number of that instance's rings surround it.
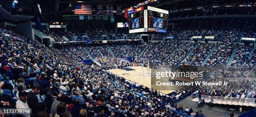
<svg viewBox="0 0 256 117">
<path fill-rule="evenodd" d="M 139 7 L 127 12 L 129 33 L 160 32 L 166 33 L 169 11 L 155 7 Z"/>
</svg>

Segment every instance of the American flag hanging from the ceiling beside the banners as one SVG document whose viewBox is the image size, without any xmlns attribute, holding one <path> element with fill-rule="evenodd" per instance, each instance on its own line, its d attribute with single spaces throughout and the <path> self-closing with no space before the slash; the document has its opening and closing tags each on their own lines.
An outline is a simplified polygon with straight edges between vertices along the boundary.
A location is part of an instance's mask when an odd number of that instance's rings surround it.
<svg viewBox="0 0 256 117">
<path fill-rule="evenodd" d="M 90 15 L 92 14 L 92 5 L 76 4 L 74 14 Z"/>
</svg>

